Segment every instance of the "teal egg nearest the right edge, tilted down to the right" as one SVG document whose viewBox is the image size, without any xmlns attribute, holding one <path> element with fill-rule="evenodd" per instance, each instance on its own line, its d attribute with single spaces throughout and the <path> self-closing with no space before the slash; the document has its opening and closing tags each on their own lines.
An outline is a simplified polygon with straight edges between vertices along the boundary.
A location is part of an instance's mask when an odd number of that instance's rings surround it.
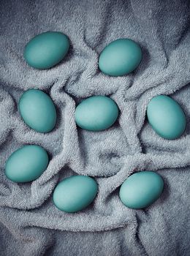
<svg viewBox="0 0 190 256">
<path fill-rule="evenodd" d="M 165 139 L 177 139 L 186 129 L 186 116 L 178 102 L 166 96 L 153 97 L 147 116 L 154 131 Z"/>
</svg>

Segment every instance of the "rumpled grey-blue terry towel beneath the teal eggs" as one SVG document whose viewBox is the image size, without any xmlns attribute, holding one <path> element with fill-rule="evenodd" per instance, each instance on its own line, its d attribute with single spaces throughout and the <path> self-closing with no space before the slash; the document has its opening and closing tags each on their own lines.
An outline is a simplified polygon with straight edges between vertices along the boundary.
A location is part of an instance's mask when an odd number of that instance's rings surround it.
<svg viewBox="0 0 190 256">
<path fill-rule="evenodd" d="M 0 2 L 0 255 L 190 255 L 189 0 Z M 37 70 L 23 49 L 44 31 L 64 32 L 71 48 L 56 67 Z M 109 77 L 98 69 L 99 53 L 122 37 L 140 44 L 142 63 L 130 75 Z M 55 102 L 53 132 L 35 132 L 21 120 L 18 100 L 31 88 Z M 118 121 L 103 132 L 77 128 L 75 105 L 99 94 L 117 102 Z M 160 138 L 146 121 L 148 102 L 159 94 L 186 113 L 178 140 Z M 50 163 L 36 181 L 16 184 L 4 164 L 26 144 L 43 146 Z M 161 174 L 164 192 L 145 210 L 126 208 L 119 187 L 143 170 Z M 93 176 L 99 192 L 87 209 L 66 214 L 52 193 L 74 174 Z"/>
</svg>

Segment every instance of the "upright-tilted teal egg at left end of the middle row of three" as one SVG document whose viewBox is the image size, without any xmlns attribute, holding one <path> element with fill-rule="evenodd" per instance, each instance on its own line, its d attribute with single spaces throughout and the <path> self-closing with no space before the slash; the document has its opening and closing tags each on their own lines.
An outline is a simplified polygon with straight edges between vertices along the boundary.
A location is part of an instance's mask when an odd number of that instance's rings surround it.
<svg viewBox="0 0 190 256">
<path fill-rule="evenodd" d="M 56 125 L 56 107 L 43 91 L 25 91 L 20 97 L 19 110 L 23 121 L 37 132 L 50 132 Z"/>
</svg>

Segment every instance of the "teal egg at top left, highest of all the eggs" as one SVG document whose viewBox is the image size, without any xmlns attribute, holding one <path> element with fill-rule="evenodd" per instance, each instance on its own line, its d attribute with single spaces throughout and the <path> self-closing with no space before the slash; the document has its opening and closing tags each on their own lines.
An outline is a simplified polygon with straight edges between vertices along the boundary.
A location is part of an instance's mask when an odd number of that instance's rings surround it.
<svg viewBox="0 0 190 256">
<path fill-rule="evenodd" d="M 31 39 L 24 50 L 24 58 L 31 67 L 49 69 L 58 64 L 69 50 L 69 39 L 61 33 L 47 31 Z"/>
</svg>

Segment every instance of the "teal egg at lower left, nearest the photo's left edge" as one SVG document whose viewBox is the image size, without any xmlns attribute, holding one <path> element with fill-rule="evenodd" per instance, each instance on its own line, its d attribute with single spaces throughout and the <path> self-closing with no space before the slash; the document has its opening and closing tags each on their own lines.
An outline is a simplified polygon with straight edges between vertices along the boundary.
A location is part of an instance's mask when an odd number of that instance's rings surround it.
<svg viewBox="0 0 190 256">
<path fill-rule="evenodd" d="M 47 152 L 41 146 L 23 146 L 7 159 L 5 175 L 15 182 L 34 181 L 45 171 L 48 162 Z"/>
</svg>

